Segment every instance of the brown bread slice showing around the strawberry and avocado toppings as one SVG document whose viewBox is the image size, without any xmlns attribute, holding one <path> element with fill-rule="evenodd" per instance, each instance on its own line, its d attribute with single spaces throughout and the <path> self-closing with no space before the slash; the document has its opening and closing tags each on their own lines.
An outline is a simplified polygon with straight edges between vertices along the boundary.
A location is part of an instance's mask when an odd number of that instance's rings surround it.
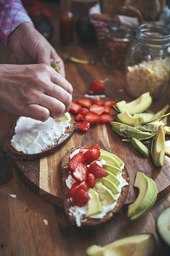
<svg viewBox="0 0 170 256">
<path fill-rule="evenodd" d="M 91 145 L 92 146 L 92 145 Z M 90 145 L 86 145 L 86 146 L 78 146 L 78 147 L 75 147 L 75 148 L 71 148 L 67 151 L 67 153 L 65 154 L 65 156 L 63 157 L 62 159 L 62 163 L 61 163 L 61 175 L 62 175 L 62 183 L 63 183 L 63 201 L 64 201 L 64 209 L 65 209 L 65 212 L 67 214 L 67 217 L 69 219 L 69 221 L 71 222 L 72 225 L 76 225 L 76 222 L 75 222 L 75 217 L 74 216 L 70 216 L 69 215 L 69 208 L 70 206 L 72 206 L 72 202 L 70 201 L 69 199 L 69 188 L 67 187 L 66 185 L 66 179 L 68 178 L 68 175 L 70 174 L 69 173 L 69 168 L 68 168 L 68 163 L 69 163 L 69 155 L 74 152 L 74 150 L 78 149 L 78 148 L 81 148 L 81 147 L 90 147 Z M 104 149 L 104 148 L 102 148 Z M 67 166 L 67 167 L 66 167 Z M 126 168 L 124 167 L 123 169 L 123 174 L 122 174 L 122 177 L 129 183 L 129 175 L 128 175 L 128 172 L 126 170 Z M 122 188 L 122 191 L 121 191 L 121 194 L 117 200 L 117 204 L 115 206 L 115 208 L 108 212 L 104 217 L 103 219 L 92 219 L 92 218 L 86 218 L 84 216 L 84 219 L 87 219 L 87 221 L 84 221 L 84 222 L 81 222 L 81 227 L 80 228 L 93 228 L 97 225 L 100 225 L 108 220 L 110 220 L 115 213 L 119 212 L 119 210 L 123 207 L 124 205 L 124 202 L 126 200 L 126 197 L 127 197 L 127 194 L 128 194 L 128 190 L 129 190 L 129 186 L 124 186 Z"/>
</svg>

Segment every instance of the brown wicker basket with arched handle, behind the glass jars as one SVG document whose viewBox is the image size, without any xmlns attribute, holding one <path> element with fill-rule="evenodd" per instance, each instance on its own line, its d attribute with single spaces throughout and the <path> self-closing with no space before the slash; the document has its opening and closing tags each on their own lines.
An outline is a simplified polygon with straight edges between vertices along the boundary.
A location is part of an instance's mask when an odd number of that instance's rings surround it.
<svg viewBox="0 0 170 256">
<path fill-rule="evenodd" d="M 108 0 L 108 3 L 109 1 L 112 1 L 112 3 L 114 2 L 113 0 Z M 166 0 L 159 0 L 159 1 L 161 4 L 161 10 L 163 10 L 166 5 Z M 146 21 L 145 19 L 147 15 L 143 14 L 136 7 L 132 5 L 118 6 L 112 11 L 112 15 L 110 13 L 92 14 L 90 21 L 94 25 L 98 47 L 100 49 L 104 48 L 105 34 L 109 31 L 110 26 L 113 23 L 120 23 L 117 15 L 137 17 L 138 23 L 140 25 L 144 23 L 152 22 L 148 20 Z"/>
</svg>

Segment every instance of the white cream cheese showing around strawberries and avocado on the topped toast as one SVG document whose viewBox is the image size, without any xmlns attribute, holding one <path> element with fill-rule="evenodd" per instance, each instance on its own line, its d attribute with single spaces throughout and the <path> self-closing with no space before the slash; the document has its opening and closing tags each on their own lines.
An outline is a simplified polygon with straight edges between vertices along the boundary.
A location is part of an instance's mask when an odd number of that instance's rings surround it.
<svg viewBox="0 0 170 256">
<path fill-rule="evenodd" d="M 70 159 L 71 159 L 74 155 L 76 155 L 77 153 L 79 153 L 79 152 L 80 152 L 80 148 L 79 148 L 79 149 L 76 149 L 76 150 L 70 155 Z M 94 162 L 95 162 L 95 161 L 94 161 Z M 97 163 L 97 164 L 99 164 L 100 166 L 103 166 L 103 164 L 106 164 L 106 163 L 105 163 L 106 161 L 103 160 L 103 159 L 100 160 L 100 161 L 98 160 L 97 162 L 99 162 L 99 163 Z M 124 164 L 121 166 L 121 169 L 123 169 L 123 168 L 124 168 Z M 119 196 L 120 196 L 120 194 L 121 194 L 122 188 L 123 188 L 124 186 L 126 186 L 126 185 L 129 185 L 129 183 L 127 183 L 126 180 L 122 177 L 122 174 L 123 174 L 123 172 L 121 172 L 119 175 L 117 175 L 117 179 L 120 181 L 120 185 L 117 186 L 117 188 L 118 188 L 118 190 L 119 190 L 119 193 L 115 195 L 116 199 L 119 198 Z M 71 176 L 71 175 L 69 175 L 69 176 Z M 69 176 L 68 176 L 68 178 L 67 178 L 67 180 L 66 180 L 66 185 L 67 185 L 67 187 L 70 189 L 71 186 L 72 186 L 72 184 L 73 184 L 72 182 L 73 182 L 74 179 L 73 179 L 72 177 L 69 177 Z M 71 178 L 72 178 L 73 180 L 72 180 Z M 95 189 L 95 188 L 93 188 L 93 189 Z M 110 190 L 110 189 L 109 189 L 109 190 Z M 107 206 L 102 205 L 103 212 L 102 212 L 102 213 L 99 213 L 99 214 L 96 214 L 96 215 L 89 216 L 89 218 L 92 218 L 92 219 L 103 219 L 103 217 L 104 217 L 108 212 L 112 211 L 112 210 L 116 207 L 116 204 L 117 204 L 117 202 L 115 202 L 115 203 L 113 203 L 113 204 L 110 204 L 110 205 L 107 205 Z M 88 211 L 88 204 L 85 204 L 85 205 L 82 206 L 82 207 L 79 207 L 79 206 L 74 205 L 74 206 L 71 206 L 71 207 L 70 207 L 70 209 L 69 209 L 69 215 L 73 215 L 73 216 L 75 217 L 76 224 L 77 224 L 78 227 L 80 227 L 80 226 L 81 226 L 81 222 L 84 222 L 84 221 L 87 220 L 87 219 L 81 220 L 82 216 L 83 216 L 83 215 L 86 215 L 87 211 Z"/>
</svg>

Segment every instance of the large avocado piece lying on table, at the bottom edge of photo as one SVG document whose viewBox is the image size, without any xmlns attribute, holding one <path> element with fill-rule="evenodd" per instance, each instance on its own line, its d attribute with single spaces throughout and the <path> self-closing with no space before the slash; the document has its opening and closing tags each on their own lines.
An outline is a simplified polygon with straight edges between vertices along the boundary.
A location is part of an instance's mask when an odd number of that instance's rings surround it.
<svg viewBox="0 0 170 256">
<path fill-rule="evenodd" d="M 127 236 L 104 246 L 92 245 L 86 250 L 87 256 L 152 256 L 155 250 L 155 239 L 145 233 Z M 102 250 L 103 249 L 103 250 Z"/>
</svg>

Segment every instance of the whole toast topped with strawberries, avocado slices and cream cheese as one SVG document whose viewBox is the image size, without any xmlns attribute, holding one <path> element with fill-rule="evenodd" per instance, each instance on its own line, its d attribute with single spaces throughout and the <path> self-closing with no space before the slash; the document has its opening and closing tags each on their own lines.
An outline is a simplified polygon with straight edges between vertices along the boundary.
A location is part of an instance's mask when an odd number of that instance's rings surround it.
<svg viewBox="0 0 170 256">
<path fill-rule="evenodd" d="M 64 209 L 71 224 L 92 228 L 110 220 L 123 207 L 128 172 L 120 158 L 100 145 L 69 149 L 61 170 Z"/>
</svg>

